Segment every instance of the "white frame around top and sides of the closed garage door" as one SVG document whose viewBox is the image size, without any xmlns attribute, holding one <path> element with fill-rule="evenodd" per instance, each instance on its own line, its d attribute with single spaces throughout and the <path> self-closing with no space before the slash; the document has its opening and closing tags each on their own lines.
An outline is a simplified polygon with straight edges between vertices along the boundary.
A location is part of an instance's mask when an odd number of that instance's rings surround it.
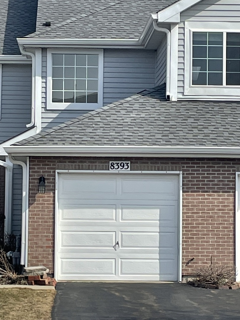
<svg viewBox="0 0 240 320">
<path fill-rule="evenodd" d="M 54 276 L 58 280 L 58 266 L 57 266 L 57 244 L 58 244 L 58 186 L 59 175 L 64 174 L 159 174 L 159 175 L 179 175 L 179 230 L 178 230 L 178 281 L 182 281 L 182 171 L 107 171 L 107 170 L 56 170 L 55 171 L 55 238 L 54 238 Z"/>
</svg>

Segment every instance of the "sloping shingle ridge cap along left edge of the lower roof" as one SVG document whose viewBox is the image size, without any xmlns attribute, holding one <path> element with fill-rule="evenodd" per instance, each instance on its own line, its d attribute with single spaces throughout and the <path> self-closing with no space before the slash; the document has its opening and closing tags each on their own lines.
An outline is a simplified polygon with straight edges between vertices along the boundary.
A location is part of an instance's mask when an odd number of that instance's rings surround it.
<svg viewBox="0 0 240 320">
<path fill-rule="evenodd" d="M 81 115 L 81 116 L 79 116 L 79 117 L 70 119 L 70 120 L 68 120 L 68 121 L 66 121 L 66 122 L 64 122 L 64 123 L 62 123 L 62 124 L 56 125 L 55 127 L 52 127 L 52 128 L 46 129 L 46 130 L 44 130 L 44 131 L 42 131 L 42 132 L 39 132 L 39 133 L 37 133 L 36 135 L 34 135 L 34 136 L 32 136 L 32 137 L 29 137 L 29 138 L 27 138 L 27 139 L 23 139 L 23 140 L 21 140 L 21 142 L 23 142 L 23 141 L 30 142 L 30 141 L 32 141 L 32 140 L 37 140 L 37 139 L 39 139 L 39 138 L 44 137 L 44 136 L 47 135 L 47 134 L 50 134 L 50 133 L 52 133 L 52 132 L 56 132 L 56 131 L 58 131 L 58 130 L 60 130 L 60 129 L 62 129 L 62 128 L 65 128 L 65 127 L 67 127 L 67 126 L 70 126 L 71 124 L 81 122 L 82 120 L 87 119 L 87 118 L 89 118 L 89 117 L 91 117 L 91 116 L 94 116 L 94 115 L 96 115 L 96 114 L 100 114 L 100 113 L 103 112 L 103 111 L 106 111 L 106 110 L 108 110 L 108 109 L 117 107 L 117 106 L 119 106 L 119 105 L 123 105 L 124 103 L 127 103 L 127 102 L 129 102 L 129 101 L 135 100 L 135 99 L 137 99 L 137 98 L 139 98 L 139 97 L 147 96 L 148 94 L 150 94 L 150 93 L 152 93 L 152 92 L 157 92 L 157 91 L 159 91 L 159 90 L 161 90 L 161 89 L 162 89 L 162 90 L 165 90 L 165 84 L 161 84 L 161 85 L 158 85 L 158 86 L 156 86 L 156 87 L 154 87 L 154 88 L 140 91 L 140 92 L 138 92 L 138 93 L 136 93 L 136 94 L 134 94 L 134 95 L 132 95 L 132 96 L 130 96 L 130 97 L 128 97 L 128 98 L 125 98 L 125 99 L 122 99 L 122 100 L 118 100 L 118 101 L 116 101 L 116 102 L 109 103 L 109 104 L 106 105 L 106 106 L 103 106 L 103 107 L 101 107 L 101 108 L 95 109 L 95 110 L 90 111 L 90 112 L 87 112 L 87 113 L 85 113 L 84 115 Z M 24 143 L 25 143 L 25 142 L 24 142 Z M 14 145 L 18 145 L 18 144 L 20 144 L 20 141 L 14 143 Z M 20 144 L 20 145 L 22 145 L 22 144 Z"/>
</svg>

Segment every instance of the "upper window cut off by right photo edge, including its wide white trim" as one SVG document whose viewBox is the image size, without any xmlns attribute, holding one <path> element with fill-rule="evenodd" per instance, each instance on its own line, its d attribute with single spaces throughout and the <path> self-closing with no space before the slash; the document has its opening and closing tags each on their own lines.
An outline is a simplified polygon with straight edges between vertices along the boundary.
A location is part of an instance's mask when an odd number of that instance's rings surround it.
<svg viewBox="0 0 240 320">
<path fill-rule="evenodd" d="M 240 96 L 240 23 L 186 21 L 184 94 Z"/>
</svg>

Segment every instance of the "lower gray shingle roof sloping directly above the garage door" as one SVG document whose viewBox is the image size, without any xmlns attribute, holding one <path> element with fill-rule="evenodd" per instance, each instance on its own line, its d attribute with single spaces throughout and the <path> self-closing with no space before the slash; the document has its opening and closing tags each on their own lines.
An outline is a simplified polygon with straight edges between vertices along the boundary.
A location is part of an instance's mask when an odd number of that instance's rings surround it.
<svg viewBox="0 0 240 320">
<path fill-rule="evenodd" d="M 240 102 L 177 101 L 156 87 L 53 127 L 15 145 L 240 145 Z"/>
</svg>

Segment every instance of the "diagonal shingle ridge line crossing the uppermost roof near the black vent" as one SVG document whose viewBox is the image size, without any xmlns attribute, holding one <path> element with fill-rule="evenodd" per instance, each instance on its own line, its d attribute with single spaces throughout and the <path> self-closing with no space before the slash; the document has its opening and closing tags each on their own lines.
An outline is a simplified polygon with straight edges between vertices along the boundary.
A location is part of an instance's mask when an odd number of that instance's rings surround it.
<svg viewBox="0 0 240 320">
<path fill-rule="evenodd" d="M 55 23 L 53 24 L 52 26 L 48 27 L 48 29 L 46 30 L 46 28 L 40 28 L 38 29 L 37 31 L 35 31 L 34 33 L 31 33 L 29 34 L 28 36 L 26 37 L 31 37 L 31 38 L 34 38 L 35 36 L 39 36 L 39 35 L 42 35 L 44 34 L 45 32 L 49 32 L 50 30 L 54 30 L 54 29 L 57 29 L 57 28 L 60 28 L 60 27 L 63 27 L 69 23 L 72 23 L 72 22 L 76 22 L 77 20 L 80 20 L 80 19 L 83 19 L 85 17 L 89 17 L 91 16 L 92 14 L 94 13 L 97 13 L 97 12 L 100 12 L 100 11 L 103 11 L 105 9 L 108 9 L 110 7 L 113 7 L 114 5 L 116 4 L 119 4 L 121 2 L 124 2 L 124 1 L 127 1 L 127 0 L 117 0 L 117 1 L 112 1 L 109 3 L 109 5 L 107 6 L 104 6 L 104 5 L 101 5 L 99 7 L 96 7 L 94 9 L 90 9 L 87 11 L 87 13 L 82 13 L 80 14 L 79 16 L 76 16 L 76 17 L 73 17 L 73 18 L 68 18 L 66 20 L 63 20 L 62 22 L 58 22 L 58 23 Z"/>
</svg>

